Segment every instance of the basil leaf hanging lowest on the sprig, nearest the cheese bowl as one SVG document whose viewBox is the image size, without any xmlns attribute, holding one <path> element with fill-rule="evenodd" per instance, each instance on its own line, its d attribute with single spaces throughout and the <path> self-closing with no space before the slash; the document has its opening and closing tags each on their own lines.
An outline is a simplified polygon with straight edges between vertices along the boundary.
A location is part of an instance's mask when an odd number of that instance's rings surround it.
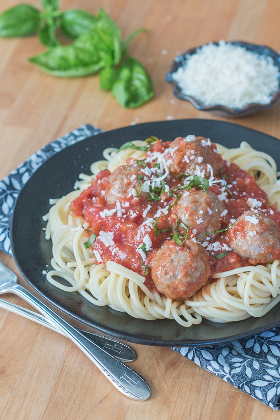
<svg viewBox="0 0 280 420">
<path fill-rule="evenodd" d="M 129 56 L 118 69 L 111 92 L 124 108 L 136 108 L 154 96 L 150 76 L 141 63 Z"/>
</svg>

